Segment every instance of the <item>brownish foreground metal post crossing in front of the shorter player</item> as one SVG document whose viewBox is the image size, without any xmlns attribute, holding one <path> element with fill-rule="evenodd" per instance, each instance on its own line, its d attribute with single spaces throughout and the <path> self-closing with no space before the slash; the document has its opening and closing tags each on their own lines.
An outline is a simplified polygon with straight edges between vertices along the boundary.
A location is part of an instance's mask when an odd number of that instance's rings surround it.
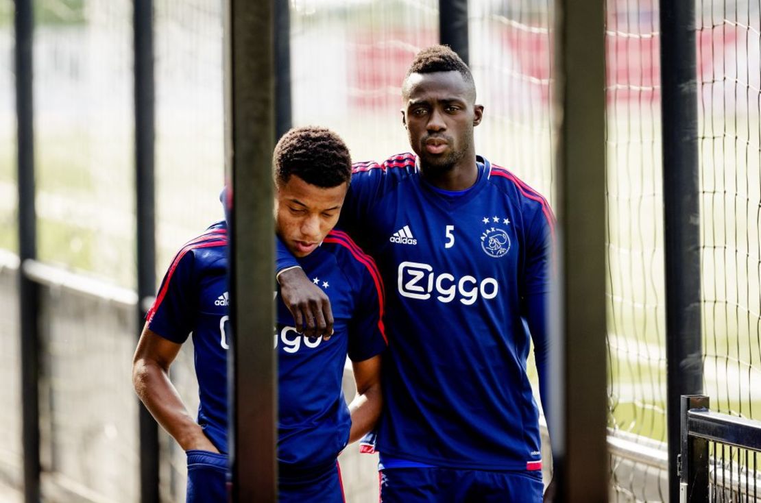
<svg viewBox="0 0 761 503">
<path fill-rule="evenodd" d="M 225 2 L 225 156 L 233 186 L 228 352 L 233 501 L 277 501 L 277 380 L 272 148 L 271 0 Z M 238 336 L 242 334 L 243 336 Z"/>
</svg>

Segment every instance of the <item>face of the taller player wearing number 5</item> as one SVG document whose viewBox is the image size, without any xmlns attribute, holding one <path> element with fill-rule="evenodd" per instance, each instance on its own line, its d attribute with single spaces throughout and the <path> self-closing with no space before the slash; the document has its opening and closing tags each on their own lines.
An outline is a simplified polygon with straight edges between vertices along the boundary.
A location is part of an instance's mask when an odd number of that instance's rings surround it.
<svg viewBox="0 0 761 503">
<path fill-rule="evenodd" d="M 413 73 L 403 88 L 402 120 L 409 145 L 426 167 L 451 169 L 473 151 L 473 126 L 483 107 L 460 72 Z M 473 152 L 471 152 L 473 151 Z"/>
</svg>

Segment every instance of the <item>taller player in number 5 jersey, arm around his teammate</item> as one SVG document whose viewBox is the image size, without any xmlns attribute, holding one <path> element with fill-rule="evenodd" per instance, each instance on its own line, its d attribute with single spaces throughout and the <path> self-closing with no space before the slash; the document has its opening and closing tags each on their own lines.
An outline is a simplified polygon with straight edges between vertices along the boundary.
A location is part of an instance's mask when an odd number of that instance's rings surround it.
<svg viewBox="0 0 761 503">
<path fill-rule="evenodd" d="M 377 427 L 384 502 L 542 501 L 533 339 L 547 410 L 546 302 L 554 219 L 542 196 L 476 155 L 483 107 L 446 46 L 422 50 L 403 82 L 415 154 L 355 164 L 339 228 L 387 285 L 389 355 Z M 292 266 L 279 254 L 279 269 Z M 310 333 L 330 314 L 298 269 L 280 275 Z"/>
</svg>

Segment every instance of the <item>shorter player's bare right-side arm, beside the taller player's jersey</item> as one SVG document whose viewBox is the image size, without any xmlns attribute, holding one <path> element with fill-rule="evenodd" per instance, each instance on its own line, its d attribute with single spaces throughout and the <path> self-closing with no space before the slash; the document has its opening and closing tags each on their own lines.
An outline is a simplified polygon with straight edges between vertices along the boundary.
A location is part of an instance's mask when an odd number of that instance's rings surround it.
<svg viewBox="0 0 761 503">
<path fill-rule="evenodd" d="M 381 367 L 381 355 L 363 361 L 352 361 L 357 394 L 352 403 L 349 403 L 349 412 L 352 414 L 349 443 L 365 436 L 380 418 L 380 410 L 383 409 L 383 394 L 380 390 Z"/>
</svg>

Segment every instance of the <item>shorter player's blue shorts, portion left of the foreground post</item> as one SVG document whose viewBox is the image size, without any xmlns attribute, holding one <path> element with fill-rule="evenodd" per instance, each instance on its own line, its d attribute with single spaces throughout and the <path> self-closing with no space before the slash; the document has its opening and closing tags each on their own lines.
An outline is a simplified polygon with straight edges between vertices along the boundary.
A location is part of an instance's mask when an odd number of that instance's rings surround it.
<svg viewBox="0 0 761 503">
<path fill-rule="evenodd" d="M 186 503 L 228 501 L 228 456 L 208 450 L 186 450 L 188 490 Z"/>
</svg>

